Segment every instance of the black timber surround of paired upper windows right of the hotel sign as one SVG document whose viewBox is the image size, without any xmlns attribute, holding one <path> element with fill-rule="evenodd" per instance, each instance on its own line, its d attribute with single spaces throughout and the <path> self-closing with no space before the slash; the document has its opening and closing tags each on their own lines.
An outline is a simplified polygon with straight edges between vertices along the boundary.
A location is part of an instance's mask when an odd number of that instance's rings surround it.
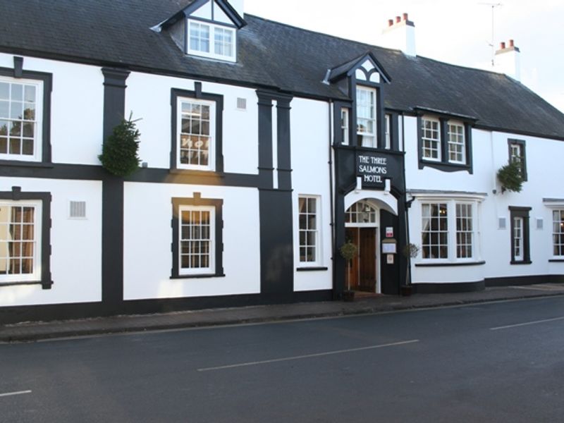
<svg viewBox="0 0 564 423">
<path fill-rule="evenodd" d="M 428 166 L 443 172 L 467 171 L 470 174 L 474 173 L 474 168 L 472 166 L 472 126 L 477 119 L 472 118 L 471 116 L 445 114 L 440 111 L 421 107 L 416 107 L 414 110 L 417 116 L 417 157 L 419 159 L 419 169 Z M 422 126 L 424 118 L 433 118 L 439 121 L 440 160 L 426 159 L 423 157 Z M 455 121 L 456 123 L 462 123 L 462 125 L 464 125 L 465 163 L 450 161 L 450 154 L 448 152 L 448 123 L 450 121 Z"/>
</svg>

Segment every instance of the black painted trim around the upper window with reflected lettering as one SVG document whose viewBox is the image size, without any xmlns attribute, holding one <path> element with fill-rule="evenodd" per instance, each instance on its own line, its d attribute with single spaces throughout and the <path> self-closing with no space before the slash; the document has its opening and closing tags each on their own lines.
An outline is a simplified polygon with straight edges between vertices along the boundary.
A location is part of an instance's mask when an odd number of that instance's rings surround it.
<svg viewBox="0 0 564 423">
<path fill-rule="evenodd" d="M 198 82 L 196 82 L 196 84 L 197 83 Z M 178 98 L 203 99 L 209 102 L 215 102 L 216 116 L 214 117 L 216 124 L 216 139 L 214 140 L 214 148 L 216 162 L 215 169 L 207 172 L 211 174 L 223 172 L 223 95 L 201 92 L 201 85 L 200 89 L 198 89 L 197 85 L 195 85 L 195 91 L 180 90 L 178 88 L 171 89 L 171 169 L 178 172 L 192 172 L 187 169 L 178 168 L 178 156 L 176 151 L 178 147 L 177 131 L 178 125 L 180 125 L 177 121 Z"/>
</svg>

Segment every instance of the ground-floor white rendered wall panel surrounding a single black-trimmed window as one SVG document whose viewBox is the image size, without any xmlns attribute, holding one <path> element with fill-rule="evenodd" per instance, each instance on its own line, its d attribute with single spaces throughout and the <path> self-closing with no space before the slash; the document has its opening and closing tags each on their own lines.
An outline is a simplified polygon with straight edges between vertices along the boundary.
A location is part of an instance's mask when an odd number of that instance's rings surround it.
<svg viewBox="0 0 564 423">
<path fill-rule="evenodd" d="M 255 188 L 125 183 L 125 300 L 260 292 L 259 194 Z M 225 277 L 171 279 L 172 197 L 223 199 Z"/>
</svg>

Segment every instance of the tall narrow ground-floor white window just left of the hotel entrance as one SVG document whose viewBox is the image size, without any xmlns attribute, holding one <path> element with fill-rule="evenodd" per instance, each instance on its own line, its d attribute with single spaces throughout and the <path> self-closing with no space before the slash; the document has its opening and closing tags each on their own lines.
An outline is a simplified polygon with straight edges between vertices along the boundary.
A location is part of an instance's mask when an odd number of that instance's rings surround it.
<svg viewBox="0 0 564 423">
<path fill-rule="evenodd" d="M 321 245 L 319 237 L 319 197 L 298 197 L 300 264 L 319 264 Z"/>
</svg>

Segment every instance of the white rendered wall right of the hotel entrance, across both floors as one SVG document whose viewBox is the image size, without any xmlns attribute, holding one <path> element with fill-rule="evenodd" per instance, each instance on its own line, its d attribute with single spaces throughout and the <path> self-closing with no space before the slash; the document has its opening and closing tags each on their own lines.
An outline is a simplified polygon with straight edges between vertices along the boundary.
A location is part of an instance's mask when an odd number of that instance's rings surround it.
<svg viewBox="0 0 564 423">
<path fill-rule="evenodd" d="M 508 163 L 508 139 L 526 142 L 528 180 L 522 192 L 501 193 L 496 173 Z M 473 174 L 467 171 L 443 172 L 418 168 L 417 119 L 405 118 L 405 171 L 407 191 L 436 190 L 439 192 L 477 192 L 486 195 L 479 206 L 479 257 L 486 264 L 478 266 L 420 267 L 421 255 L 412 260 L 414 283 L 472 282 L 483 278 L 563 274 L 564 263 L 549 263 L 552 257 L 551 209 L 543 198 L 563 198 L 561 158 L 564 142 L 472 130 Z M 494 193 L 496 190 L 496 193 Z M 449 197 L 445 193 L 444 197 Z M 529 245 L 532 264 L 510 264 L 511 233 L 509 207 L 532 207 L 529 212 Z M 506 228 L 498 228 L 498 219 L 504 217 Z M 537 229 L 537 218 L 543 219 L 544 228 Z M 409 209 L 410 242 L 421 245 L 421 207 L 413 202 Z"/>
</svg>

